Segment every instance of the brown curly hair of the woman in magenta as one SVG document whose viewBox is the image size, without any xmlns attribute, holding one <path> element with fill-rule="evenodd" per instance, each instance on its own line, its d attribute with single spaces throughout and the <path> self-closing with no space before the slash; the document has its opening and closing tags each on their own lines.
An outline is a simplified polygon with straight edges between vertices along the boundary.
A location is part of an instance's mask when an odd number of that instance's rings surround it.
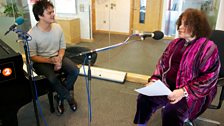
<svg viewBox="0 0 224 126">
<path fill-rule="evenodd" d="M 183 18 L 185 19 L 185 25 L 192 31 L 191 37 L 209 37 L 211 34 L 211 27 L 202 11 L 193 8 L 186 9 L 176 22 L 177 30 L 179 30 Z"/>
</svg>

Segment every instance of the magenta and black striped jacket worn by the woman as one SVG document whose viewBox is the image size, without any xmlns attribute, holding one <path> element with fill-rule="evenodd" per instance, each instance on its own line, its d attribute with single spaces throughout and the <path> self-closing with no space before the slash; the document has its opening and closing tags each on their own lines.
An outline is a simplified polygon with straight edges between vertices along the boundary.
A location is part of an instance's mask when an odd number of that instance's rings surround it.
<svg viewBox="0 0 224 126">
<path fill-rule="evenodd" d="M 153 73 L 165 84 L 166 73 L 179 40 L 175 39 L 168 45 Z M 189 119 L 197 118 L 212 102 L 217 92 L 219 69 L 218 49 L 212 41 L 203 37 L 186 47 L 177 73 L 176 88 L 184 87 L 189 94 Z"/>
</svg>

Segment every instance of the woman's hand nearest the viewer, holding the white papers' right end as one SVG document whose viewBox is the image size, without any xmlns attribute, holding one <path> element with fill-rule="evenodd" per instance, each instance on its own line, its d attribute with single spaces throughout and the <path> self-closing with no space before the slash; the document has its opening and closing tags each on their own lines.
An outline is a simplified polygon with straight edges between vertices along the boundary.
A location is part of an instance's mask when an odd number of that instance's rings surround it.
<svg viewBox="0 0 224 126">
<path fill-rule="evenodd" d="M 183 89 L 175 89 L 172 93 L 170 93 L 167 98 L 170 100 L 170 104 L 176 104 L 184 97 Z"/>
</svg>

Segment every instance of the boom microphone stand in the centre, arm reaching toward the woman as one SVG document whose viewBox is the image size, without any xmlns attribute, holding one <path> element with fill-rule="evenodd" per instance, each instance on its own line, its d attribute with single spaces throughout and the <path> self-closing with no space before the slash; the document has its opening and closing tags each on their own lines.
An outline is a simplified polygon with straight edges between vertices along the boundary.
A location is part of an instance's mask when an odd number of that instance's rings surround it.
<svg viewBox="0 0 224 126">
<path fill-rule="evenodd" d="M 110 49 L 128 44 L 129 39 L 131 39 L 131 37 L 133 37 L 133 36 L 140 36 L 140 35 L 139 34 L 132 34 L 121 43 L 117 43 L 117 44 L 114 44 L 114 45 L 110 45 L 110 46 L 106 46 L 106 47 L 103 47 L 103 48 L 98 48 L 98 49 L 94 49 L 94 50 L 90 50 L 90 51 L 81 52 L 81 53 L 76 54 L 74 56 L 70 56 L 70 58 L 73 58 L 73 57 L 76 57 L 76 56 L 85 55 L 88 59 L 88 75 L 87 75 L 88 79 L 86 80 L 87 81 L 86 89 L 87 89 L 87 97 L 88 97 L 88 104 L 89 104 L 89 107 L 88 107 L 88 118 L 89 118 L 88 119 L 88 126 L 91 125 L 91 121 L 92 121 L 92 108 L 91 108 L 91 97 L 90 97 L 90 93 L 91 93 L 90 91 L 91 90 L 89 90 L 89 89 L 91 89 L 91 60 L 92 60 L 92 54 L 96 53 L 96 52 L 102 52 L 102 51 L 110 50 Z"/>
</svg>

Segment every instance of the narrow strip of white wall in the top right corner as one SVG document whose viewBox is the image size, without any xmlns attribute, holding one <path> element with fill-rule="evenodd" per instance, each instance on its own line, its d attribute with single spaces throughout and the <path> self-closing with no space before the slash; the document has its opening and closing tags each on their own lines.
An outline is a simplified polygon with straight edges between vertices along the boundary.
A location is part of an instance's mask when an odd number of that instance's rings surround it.
<svg viewBox="0 0 224 126">
<path fill-rule="evenodd" d="M 215 29 L 217 30 L 224 30 L 224 0 L 220 0 L 220 4 L 219 4 L 219 12 L 218 12 L 218 17 L 217 17 L 217 22 L 216 22 L 216 27 Z"/>
</svg>

